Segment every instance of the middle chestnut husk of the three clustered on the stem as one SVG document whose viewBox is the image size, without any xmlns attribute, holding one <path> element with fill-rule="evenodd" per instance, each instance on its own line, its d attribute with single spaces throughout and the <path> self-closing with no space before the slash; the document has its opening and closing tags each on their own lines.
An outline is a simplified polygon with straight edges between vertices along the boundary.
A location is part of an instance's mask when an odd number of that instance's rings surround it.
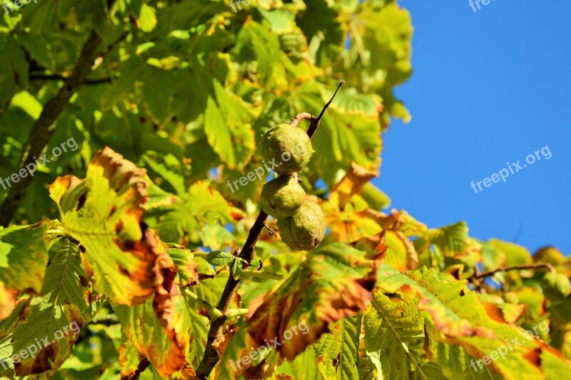
<svg viewBox="0 0 571 380">
<path fill-rule="evenodd" d="M 263 211 L 276 219 L 295 214 L 305 201 L 305 191 L 297 176 L 278 176 L 263 185 L 261 205 Z"/>
</svg>

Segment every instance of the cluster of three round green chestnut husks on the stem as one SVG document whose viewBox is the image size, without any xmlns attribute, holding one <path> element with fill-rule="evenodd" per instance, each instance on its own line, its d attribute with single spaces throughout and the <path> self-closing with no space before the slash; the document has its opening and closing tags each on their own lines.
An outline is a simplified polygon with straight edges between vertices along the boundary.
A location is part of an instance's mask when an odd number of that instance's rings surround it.
<svg viewBox="0 0 571 380">
<path fill-rule="evenodd" d="M 278 219 L 282 241 L 290 249 L 309 251 L 325 236 L 327 223 L 320 207 L 305 200 L 298 172 L 308 164 L 313 154 L 311 140 L 303 129 L 290 124 L 278 124 L 263 136 L 262 156 L 278 163 L 276 179 L 263 186 L 263 211 Z"/>
</svg>

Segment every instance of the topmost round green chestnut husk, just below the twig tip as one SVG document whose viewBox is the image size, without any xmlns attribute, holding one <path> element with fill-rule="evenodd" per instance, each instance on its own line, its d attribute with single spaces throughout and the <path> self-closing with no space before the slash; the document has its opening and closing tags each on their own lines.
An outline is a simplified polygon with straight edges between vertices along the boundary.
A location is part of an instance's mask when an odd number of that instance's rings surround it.
<svg viewBox="0 0 571 380">
<path fill-rule="evenodd" d="M 308 164 L 313 154 L 313 146 L 308 134 L 290 124 L 273 126 L 263 136 L 262 156 L 273 162 L 274 171 L 288 174 L 301 171 Z"/>
</svg>

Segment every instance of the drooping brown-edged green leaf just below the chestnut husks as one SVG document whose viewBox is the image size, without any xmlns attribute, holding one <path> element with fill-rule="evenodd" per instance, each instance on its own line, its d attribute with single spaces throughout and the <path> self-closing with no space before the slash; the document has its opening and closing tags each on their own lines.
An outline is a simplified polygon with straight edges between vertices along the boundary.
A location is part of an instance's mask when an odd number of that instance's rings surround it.
<svg viewBox="0 0 571 380">
<path fill-rule="evenodd" d="M 345 244 L 330 244 L 311 251 L 308 259 L 290 276 L 268 291 L 253 314 L 248 331 L 257 344 L 284 336 L 298 324 L 308 334 L 298 334 L 276 350 L 293 359 L 326 331 L 330 322 L 363 310 L 370 292 L 363 287 L 374 276 L 373 260 Z M 284 305 L 288 305 L 284 308 Z"/>
</svg>

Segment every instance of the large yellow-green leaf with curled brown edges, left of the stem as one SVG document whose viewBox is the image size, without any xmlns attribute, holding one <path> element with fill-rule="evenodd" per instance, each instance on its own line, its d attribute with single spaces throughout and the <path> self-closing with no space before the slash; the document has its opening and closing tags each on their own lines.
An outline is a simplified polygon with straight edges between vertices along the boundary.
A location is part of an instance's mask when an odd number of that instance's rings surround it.
<svg viewBox="0 0 571 380">
<path fill-rule="evenodd" d="M 166 247 L 141 226 L 146 202 L 144 171 L 109 148 L 98 151 L 86 179 L 59 177 L 50 196 L 66 232 L 85 247 L 97 291 L 113 303 L 141 304 L 161 286 Z"/>
</svg>

